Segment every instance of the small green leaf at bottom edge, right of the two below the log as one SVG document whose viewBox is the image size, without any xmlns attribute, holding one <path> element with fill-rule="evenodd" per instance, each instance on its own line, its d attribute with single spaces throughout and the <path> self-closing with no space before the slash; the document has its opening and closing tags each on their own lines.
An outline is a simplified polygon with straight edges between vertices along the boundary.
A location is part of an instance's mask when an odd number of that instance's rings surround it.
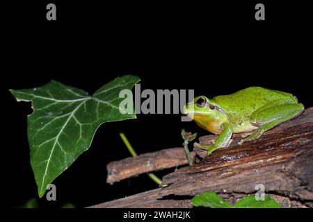
<svg viewBox="0 0 313 222">
<path fill-rule="evenodd" d="M 282 206 L 266 195 L 264 200 L 255 200 L 255 196 L 245 196 L 234 204 L 234 208 L 282 208 Z"/>
</svg>

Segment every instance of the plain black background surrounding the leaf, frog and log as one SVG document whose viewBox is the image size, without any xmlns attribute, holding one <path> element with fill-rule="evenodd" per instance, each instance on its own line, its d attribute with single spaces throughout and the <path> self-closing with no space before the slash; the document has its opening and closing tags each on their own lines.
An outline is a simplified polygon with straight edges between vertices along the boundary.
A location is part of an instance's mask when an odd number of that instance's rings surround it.
<svg viewBox="0 0 313 222">
<path fill-rule="evenodd" d="M 229 94 L 252 85 L 290 92 L 312 103 L 312 22 L 304 3 L 264 2 L 266 20 L 255 20 L 258 2 L 21 1 L 3 6 L 1 69 L 2 202 L 23 205 L 37 197 L 29 163 L 26 116 L 8 89 L 58 80 L 93 93 L 117 76 L 141 78 L 142 89 L 195 89 L 195 95 Z M 47 21 L 47 3 L 57 20 Z M 54 184 L 57 201 L 86 207 L 157 187 L 147 176 L 107 185 L 106 164 L 128 157 L 118 133 L 137 153 L 181 146 L 180 130 L 207 134 L 180 114 L 138 114 L 106 123 L 93 144 Z M 168 171 L 158 172 L 162 176 Z"/>
</svg>

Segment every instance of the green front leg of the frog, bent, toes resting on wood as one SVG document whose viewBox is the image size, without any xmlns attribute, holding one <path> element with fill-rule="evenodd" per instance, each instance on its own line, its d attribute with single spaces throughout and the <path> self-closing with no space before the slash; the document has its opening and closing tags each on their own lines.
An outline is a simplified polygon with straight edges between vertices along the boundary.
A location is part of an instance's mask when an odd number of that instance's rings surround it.
<svg viewBox="0 0 313 222">
<path fill-rule="evenodd" d="M 216 138 L 216 141 L 214 142 L 214 145 L 210 146 L 200 146 L 200 144 L 195 143 L 194 146 L 198 148 L 202 148 L 207 150 L 207 155 L 210 155 L 213 151 L 215 151 L 218 148 L 227 147 L 229 146 L 232 138 L 232 126 L 230 123 L 223 123 L 223 132 L 218 135 Z"/>
</svg>

